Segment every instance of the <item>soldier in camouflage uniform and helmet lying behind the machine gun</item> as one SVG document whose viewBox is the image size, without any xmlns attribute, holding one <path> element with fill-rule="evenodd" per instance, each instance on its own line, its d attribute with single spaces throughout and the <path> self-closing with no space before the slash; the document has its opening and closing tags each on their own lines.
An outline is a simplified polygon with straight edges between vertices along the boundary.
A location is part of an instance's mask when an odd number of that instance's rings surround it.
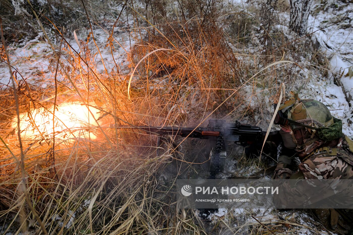
<svg viewBox="0 0 353 235">
<path fill-rule="evenodd" d="M 342 134 L 341 120 L 333 118 L 321 102 L 302 101 L 298 94 L 293 95 L 281 104 L 280 109 L 291 109 L 285 113 L 283 120 L 286 121 L 280 123 L 280 133 L 285 147 L 295 149 L 295 154 L 279 157 L 274 179 L 353 179 L 353 140 Z M 295 173 L 294 157 L 301 160 Z M 288 193 L 310 198 L 307 195 L 310 192 L 302 191 L 288 187 Z M 275 203 L 285 204 L 286 200 L 287 197 L 275 198 Z M 341 235 L 353 234 L 353 227 L 349 226 L 353 225 L 352 212 L 347 209 L 313 209 L 328 230 Z"/>
</svg>

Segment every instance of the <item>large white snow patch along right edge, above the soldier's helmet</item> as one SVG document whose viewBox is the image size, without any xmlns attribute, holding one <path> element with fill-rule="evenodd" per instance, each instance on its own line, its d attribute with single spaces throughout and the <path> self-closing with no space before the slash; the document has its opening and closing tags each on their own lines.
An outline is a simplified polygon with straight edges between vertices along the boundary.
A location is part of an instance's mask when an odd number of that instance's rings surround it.
<svg viewBox="0 0 353 235">
<path fill-rule="evenodd" d="M 353 137 L 353 101 L 349 107 L 346 96 L 353 97 L 353 4 L 329 0 L 326 5 L 313 6 L 316 13 L 309 16 L 308 31 L 313 42 L 329 60 L 331 72 L 327 78 L 317 79 L 311 88 L 319 90 L 316 99 L 326 104 L 331 112 L 343 121 L 343 133 Z M 343 20 L 342 20 L 343 19 Z M 337 23 L 338 22 L 338 23 Z M 334 76 L 345 91 L 334 84 Z"/>
</svg>

